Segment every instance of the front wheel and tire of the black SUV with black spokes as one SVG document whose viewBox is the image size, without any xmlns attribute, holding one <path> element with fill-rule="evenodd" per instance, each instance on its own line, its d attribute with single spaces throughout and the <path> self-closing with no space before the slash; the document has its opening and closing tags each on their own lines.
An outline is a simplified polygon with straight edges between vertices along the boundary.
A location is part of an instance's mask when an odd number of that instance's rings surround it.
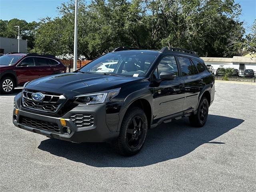
<svg viewBox="0 0 256 192">
<path fill-rule="evenodd" d="M 134 122 L 135 121 L 135 122 Z M 120 134 L 112 146 L 123 156 L 137 154 L 146 139 L 148 120 L 145 112 L 138 107 L 128 109 L 122 120 Z"/>
</svg>

